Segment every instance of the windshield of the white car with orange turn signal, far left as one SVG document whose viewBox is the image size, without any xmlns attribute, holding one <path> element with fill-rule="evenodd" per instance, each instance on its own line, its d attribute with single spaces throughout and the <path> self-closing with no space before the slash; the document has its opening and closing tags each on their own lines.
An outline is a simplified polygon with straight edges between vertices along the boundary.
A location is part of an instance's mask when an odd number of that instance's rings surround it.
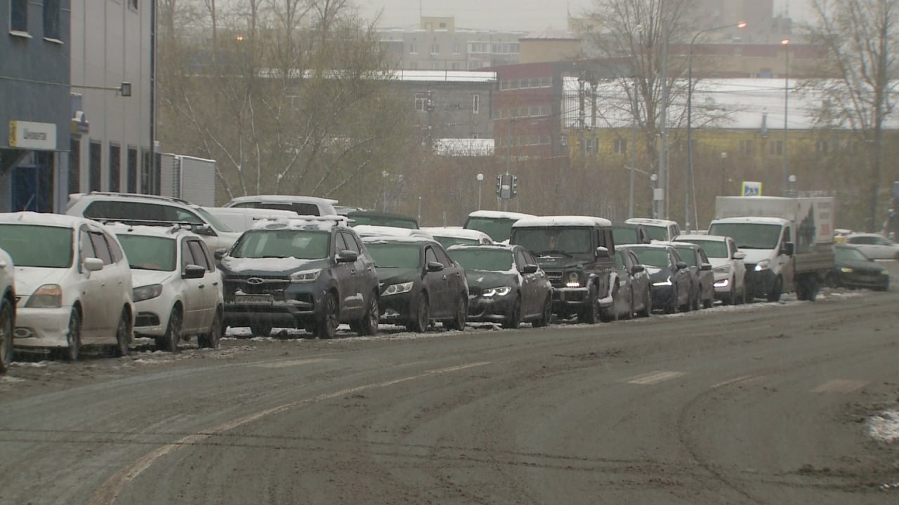
<svg viewBox="0 0 899 505">
<path fill-rule="evenodd" d="M 0 249 L 17 267 L 72 266 L 74 230 L 62 226 L 0 225 Z"/>
</svg>

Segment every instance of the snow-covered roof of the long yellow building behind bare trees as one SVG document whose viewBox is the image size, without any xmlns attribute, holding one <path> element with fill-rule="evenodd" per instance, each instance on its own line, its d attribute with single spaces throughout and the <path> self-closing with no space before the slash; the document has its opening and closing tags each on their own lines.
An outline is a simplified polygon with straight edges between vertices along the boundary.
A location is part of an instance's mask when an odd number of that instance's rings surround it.
<svg viewBox="0 0 899 505">
<path fill-rule="evenodd" d="M 692 93 L 692 127 L 721 129 L 783 130 L 784 91 L 788 91 L 787 128 L 805 130 L 815 128 L 818 110 L 824 99 L 809 81 L 799 79 L 701 79 L 694 80 Z M 578 106 L 579 84 L 577 77 L 565 77 L 563 98 L 563 126 L 580 126 Z M 803 85 L 802 89 L 798 86 Z M 899 86 L 899 83 L 896 84 Z M 687 80 L 675 80 L 674 89 L 683 90 L 672 96 L 668 117 L 683 114 L 687 109 Z M 617 80 L 602 80 L 596 88 L 596 124 L 592 124 L 592 111 L 584 115 L 585 127 L 630 128 L 633 120 L 632 104 L 628 94 Z M 590 103 L 588 98 L 587 103 Z M 686 121 L 681 128 L 686 126 Z M 886 128 L 899 128 L 899 116 L 893 114 L 886 120 Z"/>
</svg>

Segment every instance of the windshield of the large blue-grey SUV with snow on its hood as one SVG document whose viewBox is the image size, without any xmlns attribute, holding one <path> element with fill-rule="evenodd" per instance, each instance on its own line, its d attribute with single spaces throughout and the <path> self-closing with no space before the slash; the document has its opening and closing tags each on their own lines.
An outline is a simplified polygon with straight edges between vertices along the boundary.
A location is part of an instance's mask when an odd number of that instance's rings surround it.
<svg viewBox="0 0 899 505">
<path fill-rule="evenodd" d="M 230 255 L 234 258 L 297 258 L 328 256 L 331 233 L 321 230 L 251 230 L 241 235 Z"/>
</svg>

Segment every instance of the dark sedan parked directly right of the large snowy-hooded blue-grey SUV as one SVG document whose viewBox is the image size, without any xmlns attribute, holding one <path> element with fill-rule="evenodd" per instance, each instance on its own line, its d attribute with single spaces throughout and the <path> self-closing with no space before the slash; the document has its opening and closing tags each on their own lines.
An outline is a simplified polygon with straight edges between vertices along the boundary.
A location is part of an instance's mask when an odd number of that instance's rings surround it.
<svg viewBox="0 0 899 505">
<path fill-rule="evenodd" d="M 468 314 L 465 270 L 440 243 L 423 237 L 362 239 L 380 279 L 381 321 L 424 332 L 432 321 L 463 330 Z"/>
</svg>

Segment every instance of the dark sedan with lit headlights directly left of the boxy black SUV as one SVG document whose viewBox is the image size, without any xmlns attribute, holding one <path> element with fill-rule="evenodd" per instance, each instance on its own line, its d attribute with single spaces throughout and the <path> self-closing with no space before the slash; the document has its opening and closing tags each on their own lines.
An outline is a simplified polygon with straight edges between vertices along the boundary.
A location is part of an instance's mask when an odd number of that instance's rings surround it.
<svg viewBox="0 0 899 505">
<path fill-rule="evenodd" d="M 449 255 L 465 269 L 468 321 L 549 324 L 553 285 L 537 258 L 521 245 L 453 245 Z"/>
</svg>

